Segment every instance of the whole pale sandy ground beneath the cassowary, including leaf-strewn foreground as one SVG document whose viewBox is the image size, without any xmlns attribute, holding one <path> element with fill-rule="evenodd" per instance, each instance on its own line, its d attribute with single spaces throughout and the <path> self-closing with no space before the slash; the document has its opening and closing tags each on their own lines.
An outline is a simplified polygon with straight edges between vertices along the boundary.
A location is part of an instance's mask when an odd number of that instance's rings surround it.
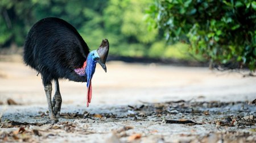
<svg viewBox="0 0 256 143">
<path fill-rule="evenodd" d="M 61 80 L 59 123 L 45 124 L 40 75 L 19 55 L 0 56 L 0 142 L 256 141 L 255 77 L 108 62 L 107 73 L 97 66 L 89 107 L 86 83 Z"/>
</svg>

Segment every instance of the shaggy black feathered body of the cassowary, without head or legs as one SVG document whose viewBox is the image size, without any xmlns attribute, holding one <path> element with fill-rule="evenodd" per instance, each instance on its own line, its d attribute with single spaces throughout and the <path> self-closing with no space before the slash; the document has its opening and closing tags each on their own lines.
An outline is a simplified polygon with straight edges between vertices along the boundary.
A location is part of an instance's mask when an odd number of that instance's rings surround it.
<svg viewBox="0 0 256 143">
<path fill-rule="evenodd" d="M 59 18 L 39 20 L 28 32 L 24 44 L 24 63 L 41 73 L 43 84 L 55 79 L 86 82 L 75 68 L 82 67 L 89 47 L 76 29 Z"/>
</svg>

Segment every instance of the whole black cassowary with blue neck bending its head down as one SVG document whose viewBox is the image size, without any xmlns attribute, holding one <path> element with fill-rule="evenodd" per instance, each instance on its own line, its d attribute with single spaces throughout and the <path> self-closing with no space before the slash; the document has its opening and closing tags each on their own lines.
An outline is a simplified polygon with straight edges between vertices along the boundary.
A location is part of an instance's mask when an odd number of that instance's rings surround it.
<svg viewBox="0 0 256 143">
<path fill-rule="evenodd" d="M 57 122 L 61 109 L 59 79 L 87 82 L 87 106 L 92 98 L 92 77 L 98 62 L 106 72 L 108 40 L 97 50 L 89 47 L 76 29 L 59 18 L 44 18 L 32 26 L 24 44 L 24 63 L 42 75 L 46 92 L 49 122 Z M 52 81 L 55 95 L 51 99 Z"/>
</svg>

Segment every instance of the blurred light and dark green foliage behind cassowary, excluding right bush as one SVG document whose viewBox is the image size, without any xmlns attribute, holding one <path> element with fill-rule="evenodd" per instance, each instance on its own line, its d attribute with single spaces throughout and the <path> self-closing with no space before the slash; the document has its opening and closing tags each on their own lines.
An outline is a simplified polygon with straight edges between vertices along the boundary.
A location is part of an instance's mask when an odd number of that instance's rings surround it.
<svg viewBox="0 0 256 143">
<path fill-rule="evenodd" d="M 1 0 L 0 47 L 12 43 L 22 46 L 36 21 L 54 16 L 71 23 L 92 50 L 100 46 L 103 38 L 108 38 L 110 55 L 189 59 L 185 54 L 187 45 L 166 45 L 158 29 L 148 31 L 145 11 L 152 2 L 154 0 Z"/>
</svg>

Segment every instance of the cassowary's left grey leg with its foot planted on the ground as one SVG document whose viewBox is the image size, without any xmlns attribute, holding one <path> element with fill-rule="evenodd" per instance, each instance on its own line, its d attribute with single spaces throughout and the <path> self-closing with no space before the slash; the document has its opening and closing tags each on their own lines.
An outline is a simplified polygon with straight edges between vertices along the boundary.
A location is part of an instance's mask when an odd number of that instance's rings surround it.
<svg viewBox="0 0 256 143">
<path fill-rule="evenodd" d="M 49 83 L 47 85 L 44 85 L 44 91 L 46 92 L 46 98 L 47 98 L 47 104 L 48 104 L 48 110 L 49 110 L 49 118 L 50 118 L 50 123 L 55 123 L 57 122 L 57 118 L 55 115 L 53 115 L 52 112 L 52 102 L 51 102 L 51 94 L 52 94 L 52 84 Z"/>
</svg>

